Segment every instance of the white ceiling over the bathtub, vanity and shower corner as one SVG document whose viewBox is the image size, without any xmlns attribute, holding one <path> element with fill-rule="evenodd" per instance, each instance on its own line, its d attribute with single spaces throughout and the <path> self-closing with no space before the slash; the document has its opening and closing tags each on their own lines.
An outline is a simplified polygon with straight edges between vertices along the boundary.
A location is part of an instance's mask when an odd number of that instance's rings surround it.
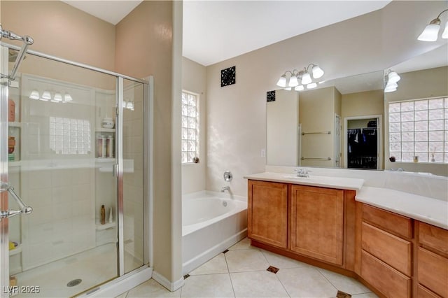
<svg viewBox="0 0 448 298">
<path fill-rule="evenodd" d="M 71 0 L 71 6 L 117 24 L 141 1 Z M 204 66 L 286 38 L 370 13 L 391 0 L 183 2 L 183 56 Z"/>
</svg>

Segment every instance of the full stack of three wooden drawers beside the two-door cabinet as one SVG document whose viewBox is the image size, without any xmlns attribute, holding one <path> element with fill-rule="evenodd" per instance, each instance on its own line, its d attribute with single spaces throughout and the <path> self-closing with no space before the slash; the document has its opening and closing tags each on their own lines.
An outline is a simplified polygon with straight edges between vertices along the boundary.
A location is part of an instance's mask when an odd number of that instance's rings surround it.
<svg viewBox="0 0 448 298">
<path fill-rule="evenodd" d="M 361 204 L 358 274 L 385 297 L 412 295 L 412 220 Z"/>
</svg>

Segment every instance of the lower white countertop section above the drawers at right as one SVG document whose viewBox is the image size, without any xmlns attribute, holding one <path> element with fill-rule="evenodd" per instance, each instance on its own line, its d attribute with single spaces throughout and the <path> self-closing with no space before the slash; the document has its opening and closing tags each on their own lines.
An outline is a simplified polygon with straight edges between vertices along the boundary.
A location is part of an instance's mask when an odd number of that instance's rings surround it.
<svg viewBox="0 0 448 298">
<path fill-rule="evenodd" d="M 448 229 L 448 201 L 369 186 L 356 193 L 356 201 Z"/>
</svg>

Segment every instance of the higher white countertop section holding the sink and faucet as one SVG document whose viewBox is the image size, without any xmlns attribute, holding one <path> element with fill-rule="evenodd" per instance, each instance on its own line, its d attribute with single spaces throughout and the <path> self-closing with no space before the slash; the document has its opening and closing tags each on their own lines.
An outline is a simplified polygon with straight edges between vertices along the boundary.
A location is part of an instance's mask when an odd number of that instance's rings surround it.
<svg viewBox="0 0 448 298">
<path fill-rule="evenodd" d="M 289 174 L 264 172 L 244 176 L 244 178 L 250 180 L 262 180 L 270 182 L 337 188 L 339 190 L 360 190 L 364 183 L 363 179 L 358 178 L 314 176 L 311 173 L 309 177 L 297 177 L 293 173 Z"/>
</svg>

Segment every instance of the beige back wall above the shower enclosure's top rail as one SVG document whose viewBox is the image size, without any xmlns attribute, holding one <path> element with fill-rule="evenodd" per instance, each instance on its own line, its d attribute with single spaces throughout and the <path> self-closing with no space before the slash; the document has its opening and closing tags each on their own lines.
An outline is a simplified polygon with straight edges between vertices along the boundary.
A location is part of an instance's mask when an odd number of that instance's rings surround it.
<svg viewBox="0 0 448 298">
<path fill-rule="evenodd" d="M 30 50 L 113 70 L 115 27 L 62 1 L 1 0 L 3 29 L 34 39 Z M 6 41 L 21 45 L 18 41 Z"/>
</svg>

